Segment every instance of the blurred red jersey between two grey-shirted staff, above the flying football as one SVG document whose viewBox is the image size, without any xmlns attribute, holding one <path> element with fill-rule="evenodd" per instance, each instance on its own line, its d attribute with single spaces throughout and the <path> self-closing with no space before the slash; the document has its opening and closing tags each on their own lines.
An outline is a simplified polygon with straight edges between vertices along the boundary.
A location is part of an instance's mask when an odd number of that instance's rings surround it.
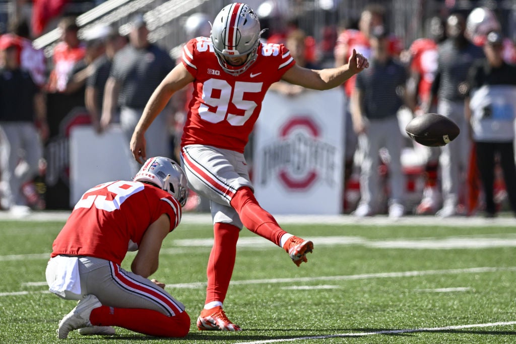
<svg viewBox="0 0 516 344">
<path fill-rule="evenodd" d="M 420 75 L 417 93 L 420 101 L 426 102 L 430 98 L 430 89 L 433 79 L 436 78 L 438 46 L 429 38 L 416 39 L 409 48 L 412 62 L 410 69 Z"/>
</svg>

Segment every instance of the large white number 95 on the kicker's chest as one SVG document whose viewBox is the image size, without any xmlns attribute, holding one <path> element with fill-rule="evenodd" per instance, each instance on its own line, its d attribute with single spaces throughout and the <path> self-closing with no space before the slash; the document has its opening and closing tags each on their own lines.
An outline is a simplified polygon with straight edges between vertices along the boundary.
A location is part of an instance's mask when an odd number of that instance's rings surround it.
<svg viewBox="0 0 516 344">
<path fill-rule="evenodd" d="M 199 106 L 199 116 L 210 123 L 219 123 L 225 120 L 234 126 L 244 125 L 257 106 L 256 102 L 244 100 L 244 95 L 245 93 L 261 92 L 262 86 L 263 83 L 235 81 L 233 89 L 226 80 L 208 79 L 202 88 L 204 103 Z M 228 113 L 230 104 L 237 109 L 244 110 L 244 116 Z"/>
</svg>

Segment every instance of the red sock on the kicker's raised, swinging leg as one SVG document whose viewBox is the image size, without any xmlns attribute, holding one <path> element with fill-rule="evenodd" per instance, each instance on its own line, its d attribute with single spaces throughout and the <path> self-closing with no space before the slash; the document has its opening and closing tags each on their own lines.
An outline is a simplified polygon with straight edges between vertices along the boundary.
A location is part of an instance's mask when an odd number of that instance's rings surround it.
<svg viewBox="0 0 516 344">
<path fill-rule="evenodd" d="M 235 208 L 240 221 L 248 230 L 280 246 L 281 236 L 287 232 L 283 231 L 275 218 L 258 204 L 249 187 L 236 191 L 231 206 Z"/>
</svg>

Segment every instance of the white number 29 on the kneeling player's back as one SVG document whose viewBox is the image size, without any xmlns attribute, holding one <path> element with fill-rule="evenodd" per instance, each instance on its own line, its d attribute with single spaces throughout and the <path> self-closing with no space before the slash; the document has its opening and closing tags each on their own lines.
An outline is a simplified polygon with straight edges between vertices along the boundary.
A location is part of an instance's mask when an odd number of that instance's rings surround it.
<svg viewBox="0 0 516 344">
<path fill-rule="evenodd" d="M 95 194 L 95 191 L 106 188 L 112 195 L 112 200 L 107 200 L 105 195 Z M 89 189 L 83 195 L 83 198 L 77 202 L 74 210 L 77 208 L 95 208 L 106 211 L 114 211 L 120 209 L 120 205 L 132 194 L 143 190 L 143 184 L 139 182 L 109 182 Z"/>
</svg>

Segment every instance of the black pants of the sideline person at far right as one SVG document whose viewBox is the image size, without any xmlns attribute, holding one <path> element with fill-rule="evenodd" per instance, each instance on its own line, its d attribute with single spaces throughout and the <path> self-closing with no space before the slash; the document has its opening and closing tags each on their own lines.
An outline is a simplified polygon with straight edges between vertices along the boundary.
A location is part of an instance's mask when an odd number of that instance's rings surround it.
<svg viewBox="0 0 516 344">
<path fill-rule="evenodd" d="M 511 142 L 476 142 L 477 167 L 486 196 L 486 212 L 495 214 L 493 199 L 495 154 L 499 153 L 500 166 L 504 173 L 505 188 L 512 211 L 516 214 L 516 165 L 514 146 Z"/>
</svg>

